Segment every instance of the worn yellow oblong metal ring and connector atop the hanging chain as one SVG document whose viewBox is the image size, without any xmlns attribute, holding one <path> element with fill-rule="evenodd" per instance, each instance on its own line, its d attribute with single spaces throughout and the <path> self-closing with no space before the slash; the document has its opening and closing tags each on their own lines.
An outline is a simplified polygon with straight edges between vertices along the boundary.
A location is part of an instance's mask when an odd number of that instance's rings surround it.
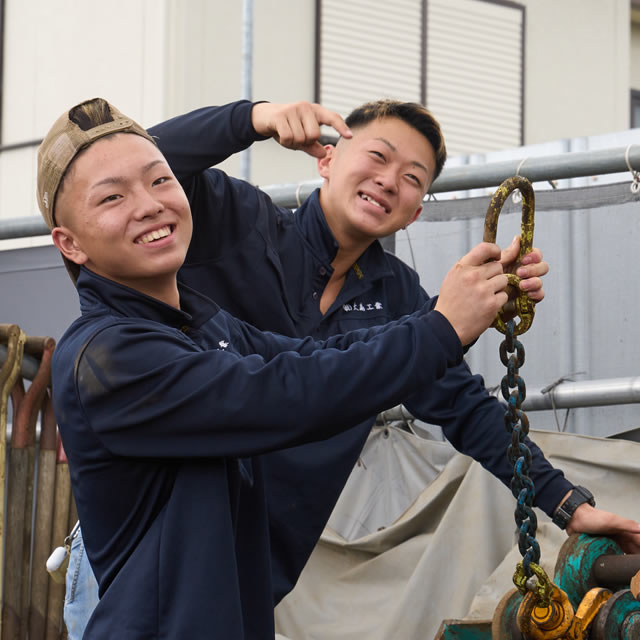
<svg viewBox="0 0 640 640">
<path fill-rule="evenodd" d="M 484 242 L 495 242 L 498 232 L 498 216 L 506 199 L 513 191 L 518 189 L 522 194 L 522 222 L 520 227 L 520 253 L 516 265 L 520 264 L 523 256 L 533 248 L 533 217 L 535 210 L 535 196 L 531 182 L 522 176 L 507 178 L 493 194 L 484 220 Z M 520 278 L 515 273 L 507 274 L 509 285 L 515 289 L 515 311 L 520 322 L 514 328 L 514 335 L 521 335 L 531 327 L 535 314 L 535 303 L 529 298 L 526 291 L 520 290 Z M 510 296 L 511 297 L 511 296 Z M 501 333 L 506 333 L 505 309 L 501 309 L 493 323 Z"/>
</svg>

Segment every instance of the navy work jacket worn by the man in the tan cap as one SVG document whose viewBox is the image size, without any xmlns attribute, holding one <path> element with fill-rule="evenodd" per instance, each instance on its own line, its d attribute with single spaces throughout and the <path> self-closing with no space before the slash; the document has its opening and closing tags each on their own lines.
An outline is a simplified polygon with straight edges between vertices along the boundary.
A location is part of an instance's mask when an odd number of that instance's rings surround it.
<svg viewBox="0 0 640 640">
<path fill-rule="evenodd" d="M 184 285 L 180 309 L 84 267 L 77 289 L 52 373 L 101 596 L 84 637 L 273 640 L 281 496 L 263 456 L 432 384 L 462 359 L 453 328 L 427 308 L 317 342 L 258 331 Z"/>
</svg>

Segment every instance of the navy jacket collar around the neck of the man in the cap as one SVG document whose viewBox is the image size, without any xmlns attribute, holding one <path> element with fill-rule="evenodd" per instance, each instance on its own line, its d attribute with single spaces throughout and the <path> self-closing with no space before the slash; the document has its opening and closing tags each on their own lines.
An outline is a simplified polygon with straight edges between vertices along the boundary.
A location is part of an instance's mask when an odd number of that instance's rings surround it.
<svg viewBox="0 0 640 640">
<path fill-rule="evenodd" d="M 180 309 L 99 276 L 86 267 L 80 269 L 76 287 L 83 315 L 91 313 L 96 304 L 103 304 L 127 318 L 197 329 L 220 310 L 215 302 L 179 281 Z"/>
</svg>

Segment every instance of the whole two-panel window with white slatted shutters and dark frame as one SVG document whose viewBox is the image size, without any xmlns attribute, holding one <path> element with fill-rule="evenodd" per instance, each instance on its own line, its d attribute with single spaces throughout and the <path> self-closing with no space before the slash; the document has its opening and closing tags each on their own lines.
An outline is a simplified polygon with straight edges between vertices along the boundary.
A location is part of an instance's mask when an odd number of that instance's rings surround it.
<svg viewBox="0 0 640 640">
<path fill-rule="evenodd" d="M 509 0 L 317 0 L 316 98 L 346 115 L 422 102 L 450 155 L 523 142 L 524 7 Z"/>
</svg>

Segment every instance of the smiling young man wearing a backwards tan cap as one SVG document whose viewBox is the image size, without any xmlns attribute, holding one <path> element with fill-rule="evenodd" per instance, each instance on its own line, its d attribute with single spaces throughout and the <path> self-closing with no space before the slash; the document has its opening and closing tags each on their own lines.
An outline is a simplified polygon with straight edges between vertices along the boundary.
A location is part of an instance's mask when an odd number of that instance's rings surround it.
<svg viewBox="0 0 640 640">
<path fill-rule="evenodd" d="M 85 637 L 271 640 L 282 495 L 263 456 L 330 438 L 458 365 L 506 302 L 499 248 L 464 256 L 435 305 L 316 342 L 262 333 L 177 282 L 188 200 L 153 139 L 105 101 L 45 137 L 38 203 L 82 314 L 52 376 L 100 584 Z"/>
</svg>

